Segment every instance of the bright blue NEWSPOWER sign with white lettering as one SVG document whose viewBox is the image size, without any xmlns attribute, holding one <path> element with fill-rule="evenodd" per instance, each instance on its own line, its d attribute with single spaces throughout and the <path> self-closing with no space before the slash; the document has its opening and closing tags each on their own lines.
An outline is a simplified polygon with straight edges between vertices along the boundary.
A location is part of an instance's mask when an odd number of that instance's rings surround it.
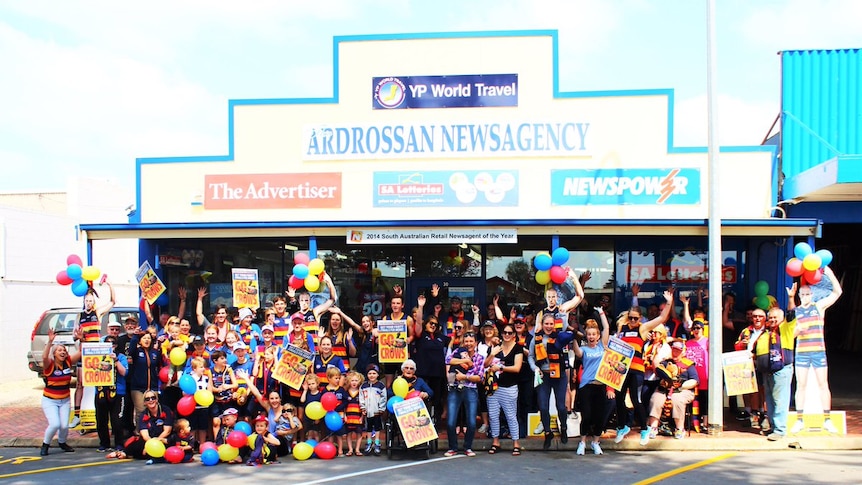
<svg viewBox="0 0 862 485">
<path fill-rule="evenodd" d="M 700 204 L 700 170 L 552 170 L 553 205 Z"/>
</svg>

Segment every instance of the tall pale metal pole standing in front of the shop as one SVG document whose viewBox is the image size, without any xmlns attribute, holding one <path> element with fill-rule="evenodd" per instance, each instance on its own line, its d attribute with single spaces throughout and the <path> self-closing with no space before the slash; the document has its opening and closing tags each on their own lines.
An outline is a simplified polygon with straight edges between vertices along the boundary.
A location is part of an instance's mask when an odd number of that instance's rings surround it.
<svg viewBox="0 0 862 485">
<path fill-rule="evenodd" d="M 709 176 L 709 427 L 710 436 L 721 435 L 724 426 L 724 392 L 721 369 L 722 348 L 722 288 L 721 288 L 721 205 L 718 170 L 718 110 L 716 93 L 715 4 L 706 0 L 706 112 Z"/>
</svg>

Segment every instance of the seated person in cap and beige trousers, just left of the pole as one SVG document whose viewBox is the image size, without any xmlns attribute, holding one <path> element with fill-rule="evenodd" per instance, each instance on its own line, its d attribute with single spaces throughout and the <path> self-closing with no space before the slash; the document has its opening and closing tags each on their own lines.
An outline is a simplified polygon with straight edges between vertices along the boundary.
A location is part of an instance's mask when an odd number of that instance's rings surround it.
<svg viewBox="0 0 862 485">
<path fill-rule="evenodd" d="M 664 376 L 649 402 L 649 438 L 654 438 L 658 433 L 659 419 L 664 403 L 668 399 L 673 406 L 671 418 L 676 426 L 673 437 L 676 439 L 685 437 L 685 407 L 694 400 L 694 388 L 698 383 L 694 363 L 685 357 L 685 343 L 682 340 L 674 340 L 670 348 L 671 359 L 662 363 Z M 646 443 L 641 440 L 641 444 Z"/>
</svg>

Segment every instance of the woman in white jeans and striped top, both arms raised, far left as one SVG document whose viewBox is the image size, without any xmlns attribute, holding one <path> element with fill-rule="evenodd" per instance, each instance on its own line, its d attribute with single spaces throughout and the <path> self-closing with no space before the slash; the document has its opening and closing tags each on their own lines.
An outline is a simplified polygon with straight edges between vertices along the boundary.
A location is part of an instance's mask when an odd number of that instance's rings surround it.
<svg viewBox="0 0 862 485">
<path fill-rule="evenodd" d="M 78 339 L 80 339 L 80 333 L 80 330 L 75 331 Z M 45 419 L 48 421 L 45 437 L 42 439 L 42 450 L 39 452 L 42 456 L 48 455 L 54 433 L 58 433 L 57 443 L 61 450 L 75 451 L 66 444 L 66 437 L 69 436 L 69 414 L 72 410 L 69 385 L 72 383 L 74 366 L 81 360 L 81 351 L 76 348 L 69 353 L 64 345 L 54 345 L 55 336 L 53 330 L 48 330 L 48 343 L 42 352 L 42 376 L 45 379 L 45 390 L 42 391 L 42 412 L 45 413 Z"/>
</svg>

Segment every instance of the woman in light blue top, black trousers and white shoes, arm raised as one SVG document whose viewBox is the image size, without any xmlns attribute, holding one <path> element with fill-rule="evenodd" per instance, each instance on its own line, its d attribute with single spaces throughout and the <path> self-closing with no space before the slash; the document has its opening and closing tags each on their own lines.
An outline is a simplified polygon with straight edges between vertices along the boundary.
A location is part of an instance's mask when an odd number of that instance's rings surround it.
<svg viewBox="0 0 862 485">
<path fill-rule="evenodd" d="M 578 455 L 583 455 L 587 447 L 587 437 L 592 436 L 591 446 L 593 454 L 602 455 L 602 447 L 599 439 L 605 429 L 605 418 L 607 417 L 608 403 L 616 397 L 614 390 L 596 380 L 602 354 L 608 346 L 610 332 L 608 330 L 608 318 L 602 307 L 596 307 L 596 312 L 602 320 L 602 329 L 592 318 L 585 324 L 587 343 L 583 347 L 578 345 L 577 339 L 573 340 L 575 356 L 581 360 L 583 373 L 581 374 L 580 387 L 578 388 L 578 404 L 581 409 L 581 442 L 578 444 Z"/>
</svg>

